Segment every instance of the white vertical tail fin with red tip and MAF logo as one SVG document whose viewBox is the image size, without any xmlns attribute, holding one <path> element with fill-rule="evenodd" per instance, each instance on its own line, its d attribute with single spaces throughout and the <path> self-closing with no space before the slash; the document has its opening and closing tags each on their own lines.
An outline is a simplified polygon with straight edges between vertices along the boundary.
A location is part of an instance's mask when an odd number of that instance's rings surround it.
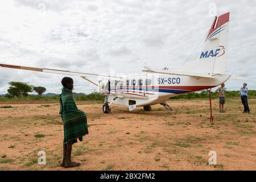
<svg viewBox="0 0 256 182">
<path fill-rule="evenodd" d="M 192 61 L 189 71 L 225 74 L 228 51 L 229 13 L 215 16 L 199 57 Z M 192 67 L 191 67 L 192 66 Z"/>
</svg>

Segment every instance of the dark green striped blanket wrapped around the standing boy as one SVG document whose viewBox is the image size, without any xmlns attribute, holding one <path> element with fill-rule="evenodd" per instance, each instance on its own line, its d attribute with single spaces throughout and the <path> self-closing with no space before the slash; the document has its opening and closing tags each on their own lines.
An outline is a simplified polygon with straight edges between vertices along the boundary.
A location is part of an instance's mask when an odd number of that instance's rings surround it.
<svg viewBox="0 0 256 182">
<path fill-rule="evenodd" d="M 64 143 L 88 134 L 87 119 L 84 111 L 77 109 L 72 91 L 63 88 L 60 94 L 60 114 L 64 123 Z"/>
</svg>

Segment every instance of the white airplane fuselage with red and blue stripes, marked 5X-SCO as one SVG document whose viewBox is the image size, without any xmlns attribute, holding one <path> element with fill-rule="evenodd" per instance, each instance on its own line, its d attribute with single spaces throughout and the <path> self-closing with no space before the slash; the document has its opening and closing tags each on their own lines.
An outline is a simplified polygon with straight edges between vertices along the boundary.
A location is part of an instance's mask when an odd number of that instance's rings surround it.
<svg viewBox="0 0 256 182">
<path fill-rule="evenodd" d="M 214 88 L 229 77 L 214 75 L 214 78 L 203 78 L 158 73 L 129 76 L 120 82 L 111 82 L 108 102 L 125 106 L 160 104 L 181 94 Z"/>
</svg>

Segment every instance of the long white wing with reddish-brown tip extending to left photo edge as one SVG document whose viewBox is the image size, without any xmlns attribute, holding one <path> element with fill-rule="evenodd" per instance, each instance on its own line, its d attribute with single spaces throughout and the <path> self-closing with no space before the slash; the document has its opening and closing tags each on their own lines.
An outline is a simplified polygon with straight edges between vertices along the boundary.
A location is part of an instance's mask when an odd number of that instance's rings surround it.
<svg viewBox="0 0 256 182">
<path fill-rule="evenodd" d="M 59 69 L 48 69 L 48 68 L 35 68 L 35 67 L 22 67 L 18 65 L 9 65 L 9 64 L 0 64 L 0 67 L 4 68 L 14 68 L 14 69 L 25 69 L 29 71 L 36 71 L 36 72 L 46 72 L 46 73 L 55 73 L 61 75 L 72 75 L 72 76 L 80 76 L 80 77 L 88 77 L 88 76 L 100 76 L 109 78 L 110 80 L 119 80 L 122 77 L 114 77 L 114 76 L 107 76 L 107 75 L 97 75 L 93 73 L 80 73 L 80 72 L 71 72 L 71 71 L 64 71 Z"/>
</svg>

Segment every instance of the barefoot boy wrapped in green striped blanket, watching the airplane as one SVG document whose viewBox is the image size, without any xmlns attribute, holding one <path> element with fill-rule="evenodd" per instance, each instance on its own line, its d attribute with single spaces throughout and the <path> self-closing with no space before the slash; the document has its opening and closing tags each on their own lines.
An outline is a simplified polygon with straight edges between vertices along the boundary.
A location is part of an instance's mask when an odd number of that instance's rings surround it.
<svg viewBox="0 0 256 182">
<path fill-rule="evenodd" d="M 88 134 L 87 120 L 84 111 L 77 109 L 73 99 L 73 79 L 64 77 L 61 80 L 63 85 L 60 94 L 60 114 L 64 123 L 63 141 L 63 162 L 61 167 L 77 167 L 80 163 L 71 161 L 72 144 L 77 142 L 77 138 L 82 141 L 82 137 Z"/>
</svg>

